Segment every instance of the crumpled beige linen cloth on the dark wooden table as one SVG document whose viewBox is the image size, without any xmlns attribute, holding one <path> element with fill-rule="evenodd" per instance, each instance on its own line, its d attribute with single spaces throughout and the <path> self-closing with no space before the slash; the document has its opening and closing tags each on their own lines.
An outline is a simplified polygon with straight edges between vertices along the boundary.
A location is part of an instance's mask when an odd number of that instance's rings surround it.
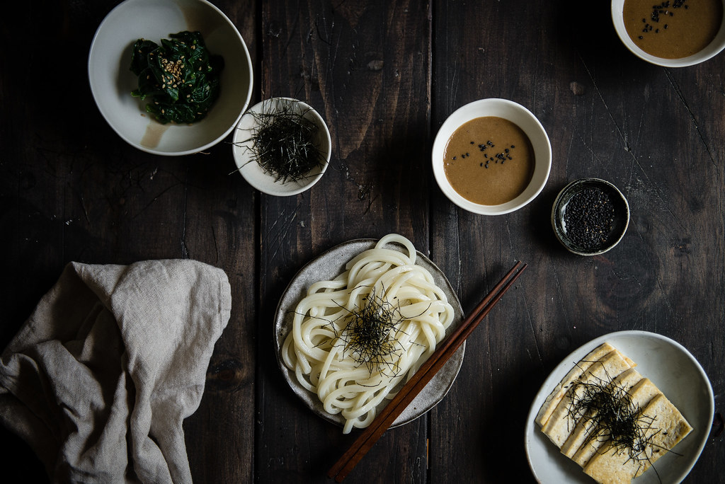
<svg viewBox="0 0 725 484">
<path fill-rule="evenodd" d="M 0 420 L 56 482 L 191 482 L 182 422 L 230 308 L 201 262 L 70 263 L 1 355 Z"/>
</svg>

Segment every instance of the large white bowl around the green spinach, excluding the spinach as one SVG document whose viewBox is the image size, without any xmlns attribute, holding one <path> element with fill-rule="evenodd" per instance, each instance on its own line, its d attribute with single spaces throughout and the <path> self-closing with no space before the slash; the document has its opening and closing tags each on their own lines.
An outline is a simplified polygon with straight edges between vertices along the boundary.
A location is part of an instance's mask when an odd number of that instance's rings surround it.
<svg viewBox="0 0 725 484">
<path fill-rule="evenodd" d="M 212 54 L 224 58 L 220 97 L 193 125 L 162 125 L 146 104 L 130 95 L 138 87 L 129 70 L 138 38 L 159 43 L 169 34 L 198 30 Z M 223 140 L 249 106 L 252 60 L 233 23 L 206 0 L 126 0 L 104 18 L 88 55 L 88 80 L 96 105 L 111 128 L 136 148 L 153 154 L 184 155 Z"/>
</svg>

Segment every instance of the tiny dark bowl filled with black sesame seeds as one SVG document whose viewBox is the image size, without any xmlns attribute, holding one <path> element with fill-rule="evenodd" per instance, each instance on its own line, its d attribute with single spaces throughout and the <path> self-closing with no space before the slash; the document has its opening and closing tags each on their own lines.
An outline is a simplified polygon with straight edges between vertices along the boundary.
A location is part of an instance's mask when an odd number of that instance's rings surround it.
<svg viewBox="0 0 725 484">
<path fill-rule="evenodd" d="M 573 254 L 604 254 L 624 237 L 629 204 L 612 183 L 581 178 L 559 192 L 552 207 L 551 225 L 556 238 Z"/>
</svg>

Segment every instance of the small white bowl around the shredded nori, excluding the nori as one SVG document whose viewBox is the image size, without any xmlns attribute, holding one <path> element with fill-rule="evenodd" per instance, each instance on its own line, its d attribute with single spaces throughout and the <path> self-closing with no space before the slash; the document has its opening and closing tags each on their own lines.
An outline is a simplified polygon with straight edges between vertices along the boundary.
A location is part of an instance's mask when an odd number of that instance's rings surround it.
<svg viewBox="0 0 725 484">
<path fill-rule="evenodd" d="M 260 167 L 257 162 L 254 162 L 252 146 L 254 143 L 250 140 L 254 134 L 254 130 L 259 125 L 255 113 L 270 113 L 281 109 L 283 104 L 291 103 L 291 107 L 298 113 L 305 113 L 305 117 L 311 120 L 318 126 L 317 139 L 314 140 L 315 146 L 323 155 L 324 163 L 320 167 L 314 167 L 302 180 L 288 180 L 286 183 L 276 180 L 276 177 Z M 249 185 L 252 185 L 262 193 L 274 196 L 290 196 L 302 193 L 312 185 L 318 183 L 322 175 L 327 170 L 328 164 L 330 164 L 330 156 L 332 153 L 332 141 L 330 138 L 330 130 L 328 129 L 325 121 L 320 117 L 315 109 L 302 101 L 292 98 L 271 98 L 266 99 L 260 103 L 255 104 L 249 109 L 244 116 L 239 120 L 239 124 L 234 130 L 232 138 L 232 154 L 234 156 L 234 163 L 236 164 L 237 170 L 247 180 Z"/>
</svg>

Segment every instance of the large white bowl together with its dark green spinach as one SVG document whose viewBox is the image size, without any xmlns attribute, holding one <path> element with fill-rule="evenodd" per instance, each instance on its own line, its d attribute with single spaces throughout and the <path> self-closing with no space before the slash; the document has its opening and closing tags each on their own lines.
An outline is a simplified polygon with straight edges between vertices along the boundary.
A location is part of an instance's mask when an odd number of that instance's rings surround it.
<svg viewBox="0 0 725 484">
<path fill-rule="evenodd" d="M 126 0 L 96 30 L 88 80 L 123 140 L 178 156 L 231 133 L 252 97 L 252 61 L 239 31 L 207 0 Z"/>
</svg>

